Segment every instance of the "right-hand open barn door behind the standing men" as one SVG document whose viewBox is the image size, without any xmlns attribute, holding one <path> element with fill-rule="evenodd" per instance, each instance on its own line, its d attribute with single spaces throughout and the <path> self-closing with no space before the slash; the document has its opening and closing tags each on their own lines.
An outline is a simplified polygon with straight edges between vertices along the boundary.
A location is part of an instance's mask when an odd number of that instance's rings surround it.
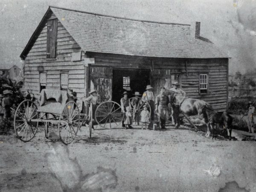
<svg viewBox="0 0 256 192">
<path fill-rule="evenodd" d="M 170 90 L 174 81 L 181 82 L 180 73 L 173 73 L 170 69 L 154 69 L 151 75 L 154 96 L 160 94 L 160 87 Z"/>
</svg>

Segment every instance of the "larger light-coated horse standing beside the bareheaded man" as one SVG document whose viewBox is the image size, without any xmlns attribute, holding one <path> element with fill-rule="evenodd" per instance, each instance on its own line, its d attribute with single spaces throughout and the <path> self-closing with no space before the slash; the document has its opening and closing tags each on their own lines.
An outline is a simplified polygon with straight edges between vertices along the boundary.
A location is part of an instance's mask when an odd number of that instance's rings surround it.
<svg viewBox="0 0 256 192">
<path fill-rule="evenodd" d="M 207 132 L 205 136 L 206 137 L 210 136 L 210 123 L 209 123 L 208 116 L 206 113 L 206 108 L 205 108 L 206 105 L 210 106 L 209 103 L 200 99 L 192 99 L 186 96 L 175 95 L 175 93 L 172 93 L 172 91 L 169 92 L 169 99 L 170 99 L 172 108 L 175 111 L 175 118 L 177 119 L 177 125 L 175 128 L 179 128 L 180 126 L 180 121 L 178 119 L 180 112 L 188 116 L 202 115 L 203 120 L 207 125 Z"/>
</svg>

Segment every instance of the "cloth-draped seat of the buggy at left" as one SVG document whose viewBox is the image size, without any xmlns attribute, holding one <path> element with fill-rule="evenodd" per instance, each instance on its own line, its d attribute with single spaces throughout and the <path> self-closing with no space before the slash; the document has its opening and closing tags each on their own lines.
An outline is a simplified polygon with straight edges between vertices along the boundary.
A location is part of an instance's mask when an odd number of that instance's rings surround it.
<svg viewBox="0 0 256 192">
<path fill-rule="evenodd" d="M 43 89 L 40 93 L 38 112 L 61 114 L 66 103 L 72 100 L 67 91 Z"/>
</svg>

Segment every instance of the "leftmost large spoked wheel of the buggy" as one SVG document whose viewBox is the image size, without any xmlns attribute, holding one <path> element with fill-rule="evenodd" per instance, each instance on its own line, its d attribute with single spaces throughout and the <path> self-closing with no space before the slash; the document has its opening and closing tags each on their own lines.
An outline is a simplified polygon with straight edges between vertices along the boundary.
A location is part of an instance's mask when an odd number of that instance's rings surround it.
<svg viewBox="0 0 256 192">
<path fill-rule="evenodd" d="M 14 116 L 14 129 L 20 140 L 27 142 L 35 137 L 38 122 L 31 122 L 31 119 L 38 119 L 38 117 L 37 107 L 31 100 L 24 100 L 18 105 Z"/>
</svg>

